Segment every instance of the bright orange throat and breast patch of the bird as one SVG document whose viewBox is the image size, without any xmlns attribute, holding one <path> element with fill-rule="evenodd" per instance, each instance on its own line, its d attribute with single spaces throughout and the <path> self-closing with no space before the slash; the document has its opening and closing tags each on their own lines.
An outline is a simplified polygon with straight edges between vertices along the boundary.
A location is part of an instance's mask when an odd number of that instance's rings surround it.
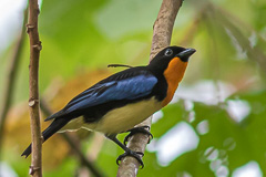
<svg viewBox="0 0 266 177">
<path fill-rule="evenodd" d="M 174 58 L 170 63 L 167 69 L 164 71 L 164 77 L 167 82 L 167 94 L 162 102 L 162 106 L 166 106 L 173 98 L 174 93 L 182 81 L 187 62 L 183 62 L 180 58 Z"/>
</svg>

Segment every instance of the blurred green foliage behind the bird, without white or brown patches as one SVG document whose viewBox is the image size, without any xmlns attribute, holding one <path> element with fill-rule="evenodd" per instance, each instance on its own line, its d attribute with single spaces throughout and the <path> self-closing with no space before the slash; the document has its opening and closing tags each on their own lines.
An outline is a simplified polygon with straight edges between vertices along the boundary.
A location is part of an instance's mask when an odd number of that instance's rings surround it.
<svg viewBox="0 0 266 177">
<path fill-rule="evenodd" d="M 68 82 L 83 72 L 103 69 L 110 63 L 146 64 L 152 27 L 160 6 L 160 0 L 43 1 L 39 25 L 43 45 L 40 93 L 51 86 L 54 77 L 60 76 Z M 211 177 L 223 176 L 221 171 L 226 173 L 224 176 L 232 176 L 236 168 L 248 162 L 256 162 L 262 174 L 266 174 L 265 21 L 266 2 L 263 0 L 184 1 L 176 18 L 172 44 L 195 48 L 197 52 L 190 61 L 181 86 L 192 88 L 196 83 L 208 81 L 216 88 L 212 98 L 217 102 L 207 104 L 205 98 L 197 95 L 208 91 L 201 90 L 194 92 L 193 97 L 180 96 L 178 102 L 165 107 L 163 118 L 152 126 L 155 140 L 180 122 L 185 122 L 198 135 L 198 146 L 166 166 L 157 163 L 156 152 L 146 152 L 145 168 L 139 171 L 139 176 L 190 174 L 193 177 Z M 27 39 L 13 105 L 28 98 L 28 45 Z M 2 54 L 1 75 L 4 75 L 12 46 Z M 1 76 L 0 81 L 3 80 Z M 217 98 L 223 92 L 219 82 L 234 87 L 225 98 Z M 185 108 L 187 100 L 193 104 L 188 111 Z M 241 122 L 234 121 L 228 113 L 228 101 L 245 102 L 250 108 Z M 194 121 L 188 119 L 191 113 Z M 206 134 L 200 134 L 197 129 L 203 121 L 208 123 Z M 226 144 L 228 138 L 232 140 Z M 84 152 L 90 146 L 90 139 L 83 140 Z M 29 160 L 20 158 L 20 150 L 11 149 L 6 152 L 4 160 L 19 176 L 27 176 Z M 211 149 L 209 154 L 217 153 L 217 156 L 209 159 L 207 149 Z M 122 153 L 116 145 L 106 140 L 95 164 L 106 176 L 115 176 L 115 159 Z M 215 163 L 219 165 L 212 168 Z M 44 176 L 74 176 L 79 168 L 76 158 L 66 156 L 53 169 L 44 170 Z M 227 170 L 221 170 L 223 168 Z"/>
</svg>

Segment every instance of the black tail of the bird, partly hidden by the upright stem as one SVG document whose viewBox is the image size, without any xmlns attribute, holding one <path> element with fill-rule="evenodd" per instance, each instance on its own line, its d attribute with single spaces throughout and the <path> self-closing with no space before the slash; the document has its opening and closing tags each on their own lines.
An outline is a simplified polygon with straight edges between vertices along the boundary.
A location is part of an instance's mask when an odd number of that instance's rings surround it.
<svg viewBox="0 0 266 177">
<path fill-rule="evenodd" d="M 65 124 L 68 124 L 69 118 L 55 118 L 52 124 L 42 132 L 43 143 L 55 134 L 59 129 L 61 129 Z M 30 146 L 22 153 L 21 156 L 25 156 L 25 158 L 31 154 L 31 144 Z"/>
</svg>

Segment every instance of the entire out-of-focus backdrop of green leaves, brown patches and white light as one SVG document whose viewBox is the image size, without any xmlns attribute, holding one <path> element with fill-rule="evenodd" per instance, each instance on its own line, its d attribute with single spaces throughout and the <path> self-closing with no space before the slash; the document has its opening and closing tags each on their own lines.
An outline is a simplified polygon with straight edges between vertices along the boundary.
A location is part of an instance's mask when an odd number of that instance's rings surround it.
<svg viewBox="0 0 266 177">
<path fill-rule="evenodd" d="M 40 97 L 55 112 L 75 94 L 121 70 L 108 64 L 145 65 L 162 0 L 40 1 Z M 0 0 L 0 176 L 28 176 L 30 158 L 29 40 L 25 0 Z M 22 40 L 21 38 L 22 32 Z M 171 105 L 153 118 L 154 139 L 142 177 L 263 177 L 266 175 L 266 1 L 185 0 L 172 45 L 194 48 Z M 16 60 L 14 60 L 16 59 Z M 10 72 L 12 65 L 16 65 Z M 11 73 L 11 74 L 10 74 Z M 47 106 L 45 106 L 47 105 Z M 4 121 L 3 121 L 4 119 Z M 104 176 L 115 176 L 123 153 L 100 134 L 68 137 Z M 120 135 L 122 140 L 124 135 Z M 43 145 L 43 174 L 92 176 L 58 134 Z"/>
</svg>

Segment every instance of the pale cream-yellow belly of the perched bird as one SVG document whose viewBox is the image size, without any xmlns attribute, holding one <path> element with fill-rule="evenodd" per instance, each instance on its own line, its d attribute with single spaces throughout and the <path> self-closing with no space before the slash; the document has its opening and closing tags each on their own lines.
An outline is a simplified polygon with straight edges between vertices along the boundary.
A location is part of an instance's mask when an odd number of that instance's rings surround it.
<svg viewBox="0 0 266 177">
<path fill-rule="evenodd" d="M 160 108 L 161 104 L 152 97 L 151 100 L 115 108 L 96 123 L 83 124 L 82 128 L 102 132 L 105 135 L 119 134 L 133 128 Z"/>
</svg>

